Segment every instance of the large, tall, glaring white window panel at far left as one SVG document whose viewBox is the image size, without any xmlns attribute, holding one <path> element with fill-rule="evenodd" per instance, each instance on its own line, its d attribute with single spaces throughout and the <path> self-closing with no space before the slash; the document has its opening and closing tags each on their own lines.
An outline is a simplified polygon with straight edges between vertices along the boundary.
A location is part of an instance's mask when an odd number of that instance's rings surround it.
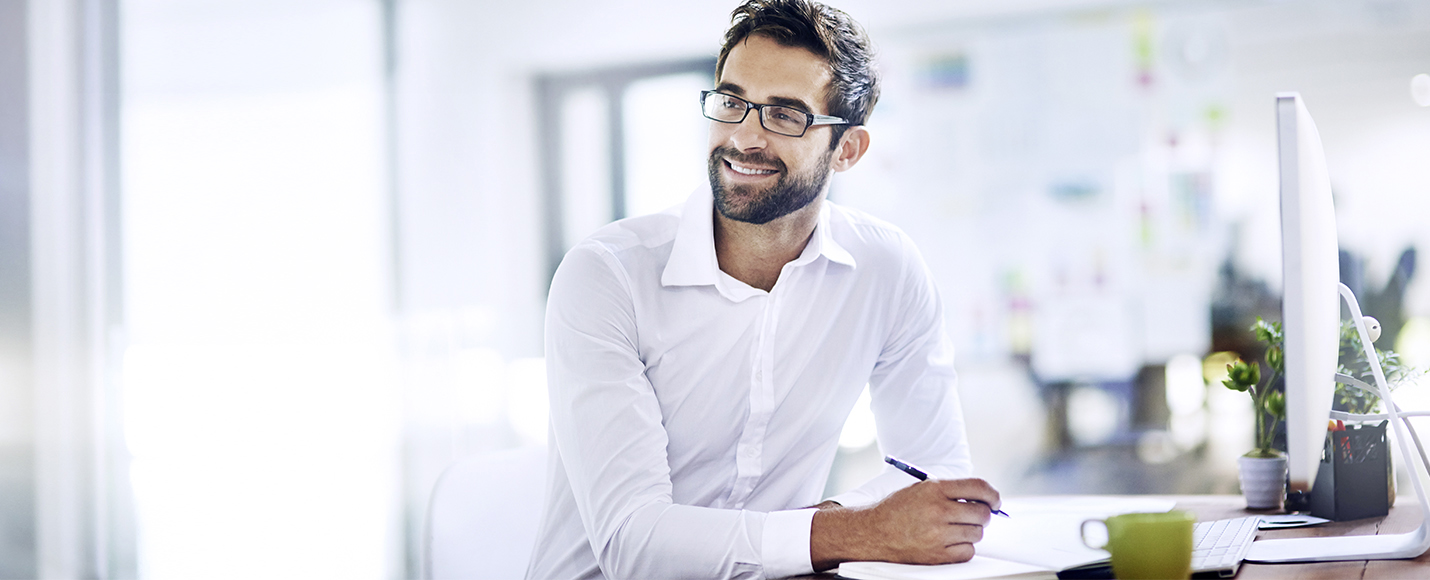
<svg viewBox="0 0 1430 580">
<path fill-rule="evenodd" d="M 392 577 L 379 4 L 123 9 L 139 576 Z"/>
</svg>

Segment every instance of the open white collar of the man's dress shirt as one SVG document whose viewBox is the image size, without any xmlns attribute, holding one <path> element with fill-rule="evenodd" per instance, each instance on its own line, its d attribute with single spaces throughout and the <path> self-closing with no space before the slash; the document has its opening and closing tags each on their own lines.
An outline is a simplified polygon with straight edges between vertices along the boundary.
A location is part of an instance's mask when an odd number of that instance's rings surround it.
<svg viewBox="0 0 1430 580">
<path fill-rule="evenodd" d="M 848 267 L 855 267 L 854 256 L 834 240 L 829 231 L 829 203 L 819 204 L 819 221 L 804 251 L 794 261 L 804 266 L 824 256 Z M 719 260 L 715 259 L 715 200 L 709 186 L 691 193 L 681 209 L 679 229 L 671 247 L 671 259 L 661 273 L 661 286 L 724 286 Z M 731 279 L 734 280 L 734 279 Z"/>
</svg>

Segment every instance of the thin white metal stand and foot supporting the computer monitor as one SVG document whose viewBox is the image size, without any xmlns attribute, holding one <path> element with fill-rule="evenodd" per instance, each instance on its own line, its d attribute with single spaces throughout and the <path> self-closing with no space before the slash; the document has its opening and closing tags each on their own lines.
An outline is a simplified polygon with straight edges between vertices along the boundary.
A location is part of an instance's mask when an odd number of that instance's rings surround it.
<svg viewBox="0 0 1430 580">
<path fill-rule="evenodd" d="M 1366 330 L 1366 321 L 1360 313 L 1356 294 L 1346 284 L 1340 284 L 1341 299 L 1350 307 L 1351 320 L 1360 333 L 1360 344 L 1366 349 L 1366 360 L 1371 361 L 1371 371 L 1376 376 L 1376 386 L 1380 389 L 1380 399 L 1390 414 L 1390 424 L 1396 429 L 1396 447 L 1400 447 L 1400 457 L 1406 466 L 1411 467 L 1410 479 L 1416 487 L 1416 497 L 1420 500 L 1420 527 L 1404 534 L 1379 536 L 1334 536 L 1334 537 L 1293 537 L 1281 540 L 1257 540 L 1247 551 L 1247 561 L 1260 563 L 1288 563 L 1288 561 L 1344 561 L 1344 560 L 1397 560 L 1413 559 L 1430 549 L 1430 501 L 1426 501 L 1426 491 L 1420 483 L 1420 473 L 1430 473 L 1419 456 L 1411 456 L 1409 434 L 1390 399 L 1390 387 L 1386 384 L 1386 373 L 1380 369 L 1380 359 Z"/>
</svg>

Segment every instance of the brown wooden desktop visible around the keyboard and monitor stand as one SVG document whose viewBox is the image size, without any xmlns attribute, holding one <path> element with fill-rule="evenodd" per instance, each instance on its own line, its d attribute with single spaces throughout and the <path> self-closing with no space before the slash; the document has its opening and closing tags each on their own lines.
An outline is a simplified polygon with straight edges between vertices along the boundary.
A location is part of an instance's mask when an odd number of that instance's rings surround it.
<svg viewBox="0 0 1430 580">
<path fill-rule="evenodd" d="M 1241 517 L 1248 511 L 1241 496 L 1170 496 L 1177 500 L 1178 510 L 1197 514 L 1197 520 L 1221 520 Z M 1420 506 L 1414 496 L 1401 496 L 1386 517 L 1364 520 L 1330 521 L 1311 527 L 1287 530 L 1261 530 L 1257 539 L 1313 537 L 1313 536 L 1364 536 L 1399 534 L 1411 531 L 1420 524 Z M 1370 561 L 1317 561 L 1308 564 L 1256 564 L 1243 563 L 1237 580 L 1256 579 L 1430 579 L 1430 553 L 1414 560 L 1370 560 Z"/>
</svg>

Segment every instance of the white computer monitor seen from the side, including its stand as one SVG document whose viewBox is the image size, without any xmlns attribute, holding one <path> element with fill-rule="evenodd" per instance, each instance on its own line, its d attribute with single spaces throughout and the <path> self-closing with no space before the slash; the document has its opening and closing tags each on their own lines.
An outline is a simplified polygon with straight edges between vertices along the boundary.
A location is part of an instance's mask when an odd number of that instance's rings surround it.
<svg viewBox="0 0 1430 580">
<path fill-rule="evenodd" d="M 1286 444 L 1290 493 L 1308 493 L 1320 467 L 1336 391 L 1340 347 L 1340 294 L 1366 349 L 1370 334 L 1360 320 L 1350 289 L 1340 283 L 1336 243 L 1336 209 L 1321 137 L 1297 93 L 1276 97 L 1277 147 L 1281 174 L 1281 326 L 1286 331 Z M 1371 357 L 1374 359 L 1374 357 Z M 1300 537 L 1257 540 L 1250 561 L 1337 561 L 1410 559 L 1430 549 L 1430 500 L 1420 483 L 1421 464 L 1406 446 L 1406 426 L 1386 389 L 1384 374 L 1373 366 L 1381 399 L 1396 430 L 1401 460 L 1416 471 L 1421 523 L 1404 534 Z M 1419 457 L 1416 457 L 1419 459 Z M 1424 466 L 1430 469 L 1430 466 Z"/>
</svg>

